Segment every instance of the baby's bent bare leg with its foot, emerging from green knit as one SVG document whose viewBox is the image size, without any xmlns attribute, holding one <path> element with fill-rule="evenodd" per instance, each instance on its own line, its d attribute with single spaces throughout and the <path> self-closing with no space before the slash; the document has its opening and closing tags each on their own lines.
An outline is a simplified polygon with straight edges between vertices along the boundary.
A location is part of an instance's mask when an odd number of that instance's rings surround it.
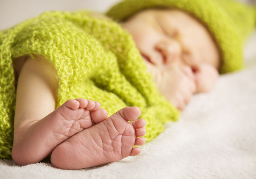
<svg viewBox="0 0 256 179">
<path fill-rule="evenodd" d="M 96 101 L 68 100 L 55 109 L 55 69 L 46 59 L 27 59 L 19 74 L 12 156 L 20 165 L 37 163 L 61 142 L 108 113 Z"/>
</svg>

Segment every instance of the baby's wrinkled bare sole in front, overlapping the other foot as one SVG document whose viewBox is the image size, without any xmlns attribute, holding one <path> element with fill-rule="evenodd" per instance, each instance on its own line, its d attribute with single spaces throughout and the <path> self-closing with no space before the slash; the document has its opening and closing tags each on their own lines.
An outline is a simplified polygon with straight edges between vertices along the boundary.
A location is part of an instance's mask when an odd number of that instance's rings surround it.
<svg viewBox="0 0 256 179">
<path fill-rule="evenodd" d="M 53 150 L 51 162 L 63 169 L 80 169 L 121 160 L 141 153 L 146 122 L 137 107 L 126 107 L 105 121 L 82 130 Z M 131 121 L 131 122 L 128 122 Z M 141 138 L 138 138 L 141 137 Z"/>
</svg>

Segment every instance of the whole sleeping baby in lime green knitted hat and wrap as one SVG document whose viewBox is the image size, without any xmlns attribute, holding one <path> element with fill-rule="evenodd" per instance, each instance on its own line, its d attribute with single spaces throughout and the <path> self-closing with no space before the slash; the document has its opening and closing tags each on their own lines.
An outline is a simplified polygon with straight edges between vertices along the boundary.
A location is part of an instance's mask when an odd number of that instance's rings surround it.
<svg viewBox="0 0 256 179">
<path fill-rule="evenodd" d="M 242 68 L 254 16 L 229 0 L 125 0 L 1 31 L 0 157 L 80 169 L 139 155 L 219 73 Z"/>
</svg>

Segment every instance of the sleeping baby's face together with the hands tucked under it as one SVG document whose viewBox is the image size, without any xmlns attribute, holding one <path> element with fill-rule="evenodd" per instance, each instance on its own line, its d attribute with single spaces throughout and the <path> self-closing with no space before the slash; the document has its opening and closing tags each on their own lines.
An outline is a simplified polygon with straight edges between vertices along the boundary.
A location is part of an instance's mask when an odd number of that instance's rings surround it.
<svg viewBox="0 0 256 179">
<path fill-rule="evenodd" d="M 198 20 L 180 10 L 150 9 L 121 25 L 133 36 L 156 86 L 167 99 L 187 96 L 178 100 L 187 104 L 193 93 L 213 87 L 220 56 L 212 36 Z"/>
</svg>

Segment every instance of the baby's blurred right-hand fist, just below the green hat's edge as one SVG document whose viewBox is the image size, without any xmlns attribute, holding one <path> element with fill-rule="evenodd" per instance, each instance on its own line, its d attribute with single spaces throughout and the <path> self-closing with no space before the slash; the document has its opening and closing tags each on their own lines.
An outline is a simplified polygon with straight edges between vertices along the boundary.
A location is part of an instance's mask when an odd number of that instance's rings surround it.
<svg viewBox="0 0 256 179">
<path fill-rule="evenodd" d="M 193 68 L 196 93 L 208 92 L 212 90 L 214 84 L 218 79 L 218 71 L 215 67 L 208 64 L 200 64 Z"/>
</svg>

